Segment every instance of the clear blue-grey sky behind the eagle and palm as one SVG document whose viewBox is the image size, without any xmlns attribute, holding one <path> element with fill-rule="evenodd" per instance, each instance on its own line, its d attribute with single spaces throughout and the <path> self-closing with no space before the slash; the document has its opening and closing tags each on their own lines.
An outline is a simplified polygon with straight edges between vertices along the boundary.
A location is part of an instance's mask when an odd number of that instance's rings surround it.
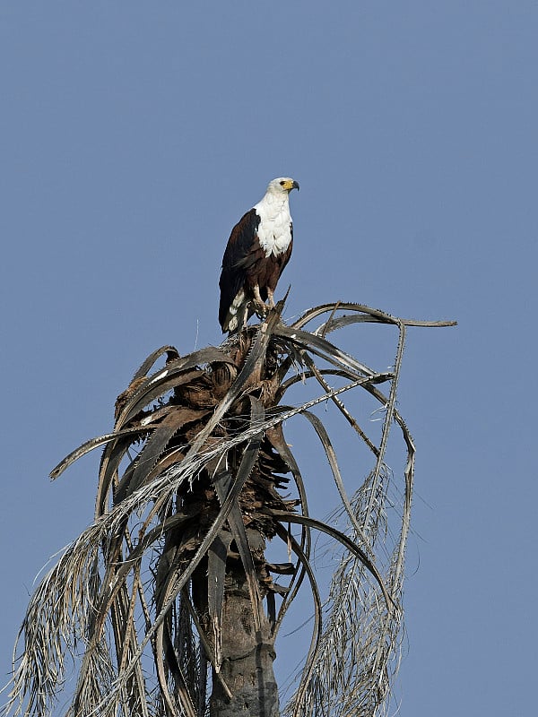
<svg viewBox="0 0 538 717">
<path fill-rule="evenodd" d="M 404 360 L 399 714 L 534 713 L 537 38 L 534 0 L 0 4 L 2 682 L 99 456 L 48 471 L 153 349 L 221 341 L 230 229 L 290 175 L 289 317 L 459 322 Z"/>
</svg>

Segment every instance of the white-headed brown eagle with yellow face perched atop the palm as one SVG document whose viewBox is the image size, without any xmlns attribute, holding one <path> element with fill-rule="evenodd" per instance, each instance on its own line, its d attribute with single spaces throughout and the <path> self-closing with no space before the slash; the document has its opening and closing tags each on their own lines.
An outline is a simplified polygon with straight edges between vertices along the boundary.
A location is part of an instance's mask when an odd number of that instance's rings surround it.
<svg viewBox="0 0 538 717">
<path fill-rule="evenodd" d="M 293 246 L 292 189 L 299 184 L 291 177 L 273 179 L 264 197 L 231 230 L 219 281 L 222 333 L 236 333 L 254 312 L 264 316 L 274 307 L 274 289 Z"/>
</svg>

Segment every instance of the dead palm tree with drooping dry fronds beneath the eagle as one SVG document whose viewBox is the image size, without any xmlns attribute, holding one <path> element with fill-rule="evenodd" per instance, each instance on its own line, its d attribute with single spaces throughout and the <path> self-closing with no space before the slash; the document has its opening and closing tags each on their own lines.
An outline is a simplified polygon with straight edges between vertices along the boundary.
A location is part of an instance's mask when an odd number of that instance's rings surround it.
<svg viewBox="0 0 538 717">
<path fill-rule="evenodd" d="M 282 307 L 219 348 L 184 357 L 172 346 L 154 351 L 118 397 L 113 432 L 52 471 L 56 478 L 104 446 L 95 520 L 30 600 L 6 712 L 50 713 L 71 658 L 77 678 L 65 690 L 65 715 L 276 717 L 274 643 L 305 581 L 314 628 L 285 713 L 366 717 L 386 704 L 402 629 L 414 461 L 396 410 L 405 327 L 448 324 L 336 303 L 286 326 Z M 365 322 L 396 327 L 390 372 L 372 370 L 325 338 Z M 164 366 L 156 367 L 162 358 Z M 288 402 L 312 382 L 315 397 Z M 351 389 L 381 408 L 377 440 L 343 405 L 340 396 Z M 329 434 L 311 410 L 327 401 L 372 457 L 352 497 Z M 299 414 L 315 429 L 342 499 L 331 524 L 309 516 L 308 478 L 282 432 L 282 423 Z M 386 450 L 393 426 L 406 457 L 401 501 L 391 508 L 387 491 L 397 480 Z M 293 497 L 282 496 L 286 487 Z M 314 531 L 340 547 L 325 608 Z M 285 545 L 287 561 L 265 557 L 273 539 Z"/>
</svg>

